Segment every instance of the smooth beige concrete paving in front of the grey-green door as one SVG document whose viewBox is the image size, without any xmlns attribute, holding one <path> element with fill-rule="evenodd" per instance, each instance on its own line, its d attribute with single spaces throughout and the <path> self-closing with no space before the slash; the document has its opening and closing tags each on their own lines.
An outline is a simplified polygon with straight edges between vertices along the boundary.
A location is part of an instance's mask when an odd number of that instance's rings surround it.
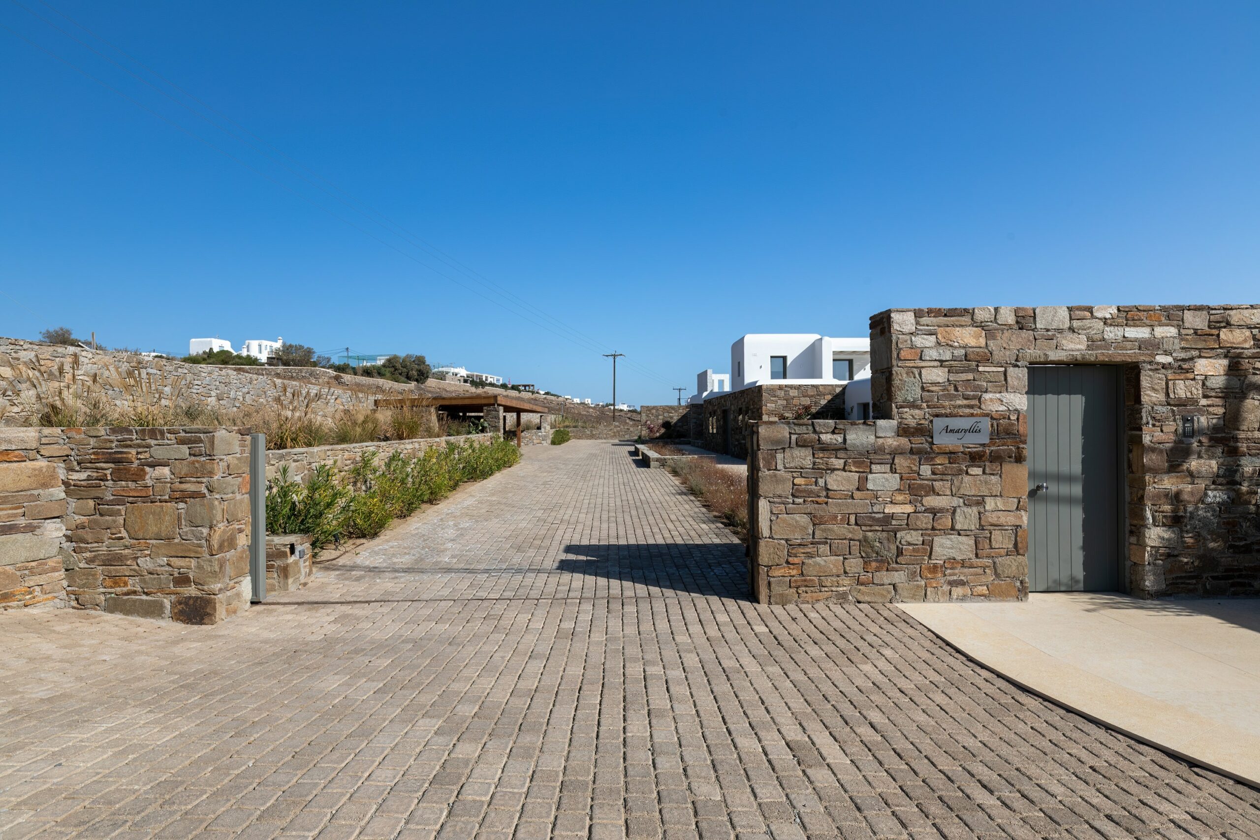
<svg viewBox="0 0 1260 840">
<path fill-rule="evenodd" d="M 1260 786 L 1260 599 L 1062 592 L 901 607 L 1042 696 Z"/>
</svg>

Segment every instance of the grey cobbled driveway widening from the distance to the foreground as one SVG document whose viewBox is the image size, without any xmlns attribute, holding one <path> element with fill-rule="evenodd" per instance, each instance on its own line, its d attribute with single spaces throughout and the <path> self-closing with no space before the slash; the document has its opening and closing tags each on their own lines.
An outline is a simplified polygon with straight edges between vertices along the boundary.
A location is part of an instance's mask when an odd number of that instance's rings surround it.
<svg viewBox="0 0 1260 840">
<path fill-rule="evenodd" d="M 524 462 L 217 627 L 0 616 L 0 836 L 1255 837 L 1260 792 L 892 607 L 761 607 L 627 447 Z"/>
</svg>

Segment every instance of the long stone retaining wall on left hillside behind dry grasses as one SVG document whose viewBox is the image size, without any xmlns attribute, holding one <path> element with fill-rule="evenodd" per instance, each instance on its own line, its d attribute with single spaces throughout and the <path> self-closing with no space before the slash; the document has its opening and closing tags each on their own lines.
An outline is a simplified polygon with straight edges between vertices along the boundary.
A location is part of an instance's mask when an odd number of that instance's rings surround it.
<svg viewBox="0 0 1260 840">
<path fill-rule="evenodd" d="M 392 393 L 396 383 L 374 382 L 367 389 L 363 377 L 353 387 L 334 382 L 338 374 L 324 370 L 319 383 L 292 382 L 306 369 L 271 369 L 194 365 L 173 359 L 105 350 L 84 350 L 38 341 L 0 338 L 0 426 L 32 426 L 40 404 L 53 399 L 86 402 L 103 397 L 116 413 L 137 407 L 207 406 L 223 413 L 265 408 L 271 404 L 301 404 L 306 414 L 334 419 L 346 408 L 370 408 L 374 395 Z M 261 372 L 261 373 L 260 373 Z M 413 393 L 404 387 L 407 393 Z"/>
</svg>

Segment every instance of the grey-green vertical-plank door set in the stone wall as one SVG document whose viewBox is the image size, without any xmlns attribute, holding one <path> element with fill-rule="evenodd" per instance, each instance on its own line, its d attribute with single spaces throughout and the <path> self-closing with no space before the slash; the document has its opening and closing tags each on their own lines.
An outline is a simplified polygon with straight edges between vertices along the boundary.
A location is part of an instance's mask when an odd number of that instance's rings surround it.
<svg viewBox="0 0 1260 840">
<path fill-rule="evenodd" d="M 1120 588 L 1121 370 L 1028 368 L 1028 584 Z"/>
</svg>

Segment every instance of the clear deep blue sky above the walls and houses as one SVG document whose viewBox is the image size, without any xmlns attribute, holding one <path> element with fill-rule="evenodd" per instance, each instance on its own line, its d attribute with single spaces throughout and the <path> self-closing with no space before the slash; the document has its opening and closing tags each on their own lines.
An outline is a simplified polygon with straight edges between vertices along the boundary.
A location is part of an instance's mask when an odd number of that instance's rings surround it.
<svg viewBox="0 0 1260 840">
<path fill-rule="evenodd" d="M 1260 300 L 1252 1 L 49 1 L 597 346 L 11 3 L 292 191 L 0 29 L 0 335 L 282 335 L 596 399 L 616 349 L 663 403 L 745 332 L 890 306 Z"/>
</svg>

